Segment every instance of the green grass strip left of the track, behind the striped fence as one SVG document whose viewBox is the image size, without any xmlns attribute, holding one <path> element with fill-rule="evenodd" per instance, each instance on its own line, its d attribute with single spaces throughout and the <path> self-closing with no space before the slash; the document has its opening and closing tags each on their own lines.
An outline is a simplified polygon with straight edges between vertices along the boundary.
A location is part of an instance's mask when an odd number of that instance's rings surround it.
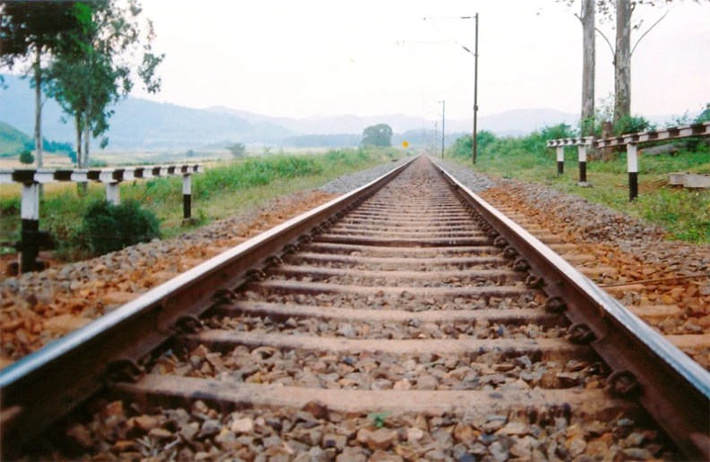
<svg viewBox="0 0 710 462">
<path fill-rule="evenodd" d="M 160 218 L 164 238 L 204 226 L 270 201 L 283 194 L 315 188 L 340 175 L 402 158 L 394 149 L 332 150 L 325 154 L 222 160 L 193 176 L 193 217 L 196 224 L 182 224 L 182 179 L 153 178 L 121 184 L 121 201 L 139 201 Z M 47 230 L 59 244 L 58 256 L 74 261 L 91 256 L 82 239 L 82 215 L 86 204 L 105 198 L 101 184 L 90 184 L 86 196 L 76 193 L 74 184 L 48 184 L 40 204 L 40 229 Z M 0 235 L 2 241 L 19 239 L 19 185 L 0 187 Z"/>
</svg>

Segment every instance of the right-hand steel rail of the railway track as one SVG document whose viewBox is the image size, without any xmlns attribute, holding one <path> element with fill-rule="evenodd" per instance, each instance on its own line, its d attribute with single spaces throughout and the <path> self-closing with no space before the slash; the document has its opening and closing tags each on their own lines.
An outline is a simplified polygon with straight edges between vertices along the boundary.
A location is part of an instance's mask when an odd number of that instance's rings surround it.
<svg viewBox="0 0 710 462">
<path fill-rule="evenodd" d="M 710 460 L 710 372 L 671 345 L 622 304 L 585 278 L 550 247 L 489 205 L 435 164 L 463 199 L 507 244 L 524 255 L 544 290 L 561 297 L 573 324 L 593 332 L 589 343 L 624 382 L 620 394 L 636 399 L 689 458 Z M 613 389 L 613 384 L 610 386 Z"/>
</svg>

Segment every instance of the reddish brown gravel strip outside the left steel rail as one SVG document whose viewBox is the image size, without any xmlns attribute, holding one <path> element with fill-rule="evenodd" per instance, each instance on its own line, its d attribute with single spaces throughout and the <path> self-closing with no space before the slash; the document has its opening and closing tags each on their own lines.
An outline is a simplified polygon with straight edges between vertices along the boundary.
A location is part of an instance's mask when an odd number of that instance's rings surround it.
<svg viewBox="0 0 710 462">
<path fill-rule="evenodd" d="M 0 282 L 0 368 L 333 197 L 293 193 L 175 239 L 5 278 Z"/>
</svg>

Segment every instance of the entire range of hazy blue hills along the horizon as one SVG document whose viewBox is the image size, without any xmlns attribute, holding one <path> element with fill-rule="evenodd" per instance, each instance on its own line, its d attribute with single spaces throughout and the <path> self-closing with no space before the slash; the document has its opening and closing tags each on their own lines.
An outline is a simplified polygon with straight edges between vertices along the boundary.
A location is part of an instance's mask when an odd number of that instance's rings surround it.
<svg viewBox="0 0 710 462">
<path fill-rule="evenodd" d="M 30 82 L 4 74 L 0 90 L 0 122 L 22 133 L 34 130 L 34 92 Z M 109 120 L 108 150 L 178 150 L 240 141 L 247 144 L 289 147 L 301 135 L 361 134 L 369 125 L 389 124 L 394 133 L 431 130 L 433 120 L 403 114 L 382 116 L 311 116 L 304 119 L 273 117 L 229 107 L 203 109 L 127 98 Z M 480 130 L 499 136 L 517 136 L 550 124 L 576 124 L 578 116 L 556 109 L 515 109 L 479 117 Z M 73 142 L 74 124 L 66 120 L 53 99 L 44 104 L 42 133 L 52 141 Z M 470 133 L 470 120 L 446 120 L 447 133 Z M 356 137 L 342 137 L 347 143 Z M 453 140 L 451 140 L 453 141 Z M 97 143 L 98 144 L 98 143 Z"/>
</svg>

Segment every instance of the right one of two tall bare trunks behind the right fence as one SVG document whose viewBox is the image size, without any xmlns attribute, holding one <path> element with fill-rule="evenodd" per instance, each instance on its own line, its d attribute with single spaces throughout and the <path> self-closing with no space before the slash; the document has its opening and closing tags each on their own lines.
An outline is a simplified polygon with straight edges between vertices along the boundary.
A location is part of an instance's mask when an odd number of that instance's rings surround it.
<svg viewBox="0 0 710 462">
<path fill-rule="evenodd" d="M 631 115 L 631 3 L 617 0 L 617 38 L 614 56 L 614 124 Z"/>
</svg>

